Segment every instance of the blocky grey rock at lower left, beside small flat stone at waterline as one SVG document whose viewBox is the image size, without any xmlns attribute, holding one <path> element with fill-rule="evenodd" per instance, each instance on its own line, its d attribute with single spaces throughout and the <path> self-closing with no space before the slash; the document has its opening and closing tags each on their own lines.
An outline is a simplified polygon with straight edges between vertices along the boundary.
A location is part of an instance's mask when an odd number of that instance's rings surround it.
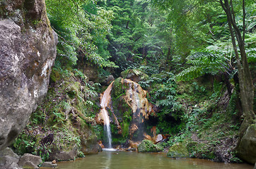
<svg viewBox="0 0 256 169">
<path fill-rule="evenodd" d="M 42 158 L 33 154 L 24 154 L 18 161 L 21 168 L 39 168 L 40 163 L 42 163 Z"/>
</svg>

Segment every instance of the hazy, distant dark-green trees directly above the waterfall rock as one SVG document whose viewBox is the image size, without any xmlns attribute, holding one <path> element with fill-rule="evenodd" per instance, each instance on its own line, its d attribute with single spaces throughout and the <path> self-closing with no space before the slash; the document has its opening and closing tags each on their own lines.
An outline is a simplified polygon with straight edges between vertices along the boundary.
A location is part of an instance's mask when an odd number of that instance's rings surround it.
<svg viewBox="0 0 256 169">
<path fill-rule="evenodd" d="M 168 25 L 158 25 L 165 23 L 164 15 L 158 15 L 146 0 L 107 1 L 105 6 L 115 15 L 112 32 L 107 36 L 110 42 L 107 49 L 112 56 L 110 60 L 120 67 L 117 75 L 141 65 L 161 67 L 166 60 L 163 54 L 170 48 L 169 32 L 161 31 Z"/>
</svg>

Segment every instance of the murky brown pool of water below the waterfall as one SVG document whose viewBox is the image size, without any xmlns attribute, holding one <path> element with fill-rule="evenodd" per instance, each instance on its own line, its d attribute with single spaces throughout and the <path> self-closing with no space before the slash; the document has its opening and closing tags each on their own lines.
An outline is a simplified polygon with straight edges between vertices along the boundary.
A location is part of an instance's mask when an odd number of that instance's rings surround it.
<svg viewBox="0 0 256 169">
<path fill-rule="evenodd" d="M 58 168 L 67 169 L 252 169 L 253 165 L 248 164 L 232 164 L 232 163 L 214 163 L 208 160 L 197 158 L 172 159 L 165 154 L 158 153 L 136 153 L 124 151 L 103 151 L 96 155 L 86 156 L 86 158 L 78 158 L 72 162 L 60 162 Z"/>
</svg>

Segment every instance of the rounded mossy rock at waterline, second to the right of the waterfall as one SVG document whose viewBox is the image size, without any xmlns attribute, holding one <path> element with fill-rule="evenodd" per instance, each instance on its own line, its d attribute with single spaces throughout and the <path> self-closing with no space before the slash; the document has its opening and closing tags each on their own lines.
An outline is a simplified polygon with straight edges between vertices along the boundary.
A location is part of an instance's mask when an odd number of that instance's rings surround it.
<svg viewBox="0 0 256 169">
<path fill-rule="evenodd" d="M 184 143 L 176 143 L 170 147 L 167 156 L 170 158 L 187 158 L 190 155 Z"/>
</svg>

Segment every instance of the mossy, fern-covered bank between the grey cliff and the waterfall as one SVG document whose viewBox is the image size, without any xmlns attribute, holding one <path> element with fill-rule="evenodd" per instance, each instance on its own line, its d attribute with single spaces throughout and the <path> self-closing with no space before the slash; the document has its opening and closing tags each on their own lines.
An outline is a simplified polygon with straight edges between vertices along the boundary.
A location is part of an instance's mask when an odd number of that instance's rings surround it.
<svg viewBox="0 0 256 169">
<path fill-rule="evenodd" d="M 49 160 L 56 151 L 81 151 L 81 140 L 100 136 L 100 127 L 95 123 L 98 84 L 88 82 L 81 70 L 59 66 L 52 70 L 50 88 L 43 103 L 32 113 L 30 125 L 13 143 L 18 154 L 32 153 Z M 52 144 L 42 144 L 47 134 L 54 135 Z"/>
</svg>

